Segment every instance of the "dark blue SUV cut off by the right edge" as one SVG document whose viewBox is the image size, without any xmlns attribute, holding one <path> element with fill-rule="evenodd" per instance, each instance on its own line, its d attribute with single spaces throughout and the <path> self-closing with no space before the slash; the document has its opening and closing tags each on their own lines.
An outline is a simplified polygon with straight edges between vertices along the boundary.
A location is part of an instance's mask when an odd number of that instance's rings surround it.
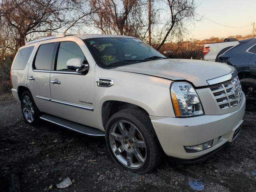
<svg viewBox="0 0 256 192">
<path fill-rule="evenodd" d="M 246 110 L 256 110 L 256 38 L 238 42 L 238 45 L 220 55 L 218 61 L 236 68 L 246 95 Z"/>
</svg>

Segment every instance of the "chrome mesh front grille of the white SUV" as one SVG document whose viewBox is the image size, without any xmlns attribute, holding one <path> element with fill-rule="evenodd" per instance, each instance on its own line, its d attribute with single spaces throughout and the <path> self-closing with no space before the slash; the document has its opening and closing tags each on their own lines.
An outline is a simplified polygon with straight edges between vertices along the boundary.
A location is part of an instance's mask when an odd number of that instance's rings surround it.
<svg viewBox="0 0 256 192">
<path fill-rule="evenodd" d="M 242 101 L 242 88 L 238 77 L 210 86 L 210 90 L 221 109 L 238 106 Z"/>
</svg>

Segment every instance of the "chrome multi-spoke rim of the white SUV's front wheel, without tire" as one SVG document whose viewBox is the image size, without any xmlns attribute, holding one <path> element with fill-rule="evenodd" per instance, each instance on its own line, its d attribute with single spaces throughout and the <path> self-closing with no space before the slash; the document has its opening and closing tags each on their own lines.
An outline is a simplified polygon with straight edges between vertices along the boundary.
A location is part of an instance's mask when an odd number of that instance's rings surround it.
<svg viewBox="0 0 256 192">
<path fill-rule="evenodd" d="M 137 169 L 147 157 L 145 140 L 136 126 L 120 120 L 110 128 L 110 145 L 116 158 L 126 167 Z"/>
</svg>

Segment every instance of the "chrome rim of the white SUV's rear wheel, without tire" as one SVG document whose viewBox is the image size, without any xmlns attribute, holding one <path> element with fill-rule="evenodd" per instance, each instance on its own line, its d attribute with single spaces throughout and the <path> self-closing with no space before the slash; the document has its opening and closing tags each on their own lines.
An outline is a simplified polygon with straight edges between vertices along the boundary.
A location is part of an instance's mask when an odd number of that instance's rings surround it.
<svg viewBox="0 0 256 192">
<path fill-rule="evenodd" d="M 33 108 L 32 100 L 27 95 L 25 95 L 22 99 L 22 111 L 26 120 L 32 123 L 35 118 L 34 108 Z"/>
</svg>

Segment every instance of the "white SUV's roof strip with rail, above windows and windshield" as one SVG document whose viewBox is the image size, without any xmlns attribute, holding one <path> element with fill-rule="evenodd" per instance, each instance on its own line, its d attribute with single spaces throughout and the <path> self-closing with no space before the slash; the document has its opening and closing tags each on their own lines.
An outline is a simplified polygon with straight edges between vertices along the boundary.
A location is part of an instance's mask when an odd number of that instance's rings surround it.
<svg viewBox="0 0 256 192">
<path fill-rule="evenodd" d="M 128 37 L 128 38 L 132 38 L 131 36 L 126 36 L 126 35 L 108 35 L 108 34 L 90 34 L 90 35 L 54 35 L 54 36 L 49 36 L 49 37 L 44 37 L 44 38 L 39 38 L 30 42 L 27 42 L 27 44 L 31 44 L 34 42 L 39 42 L 39 41 L 44 41 L 44 40 L 48 40 L 48 39 L 55 39 L 55 38 L 61 38 L 61 37 L 69 37 L 69 36 L 73 36 L 73 37 L 78 37 L 80 39 L 89 39 L 89 38 L 100 38 L 100 37 Z"/>
</svg>

